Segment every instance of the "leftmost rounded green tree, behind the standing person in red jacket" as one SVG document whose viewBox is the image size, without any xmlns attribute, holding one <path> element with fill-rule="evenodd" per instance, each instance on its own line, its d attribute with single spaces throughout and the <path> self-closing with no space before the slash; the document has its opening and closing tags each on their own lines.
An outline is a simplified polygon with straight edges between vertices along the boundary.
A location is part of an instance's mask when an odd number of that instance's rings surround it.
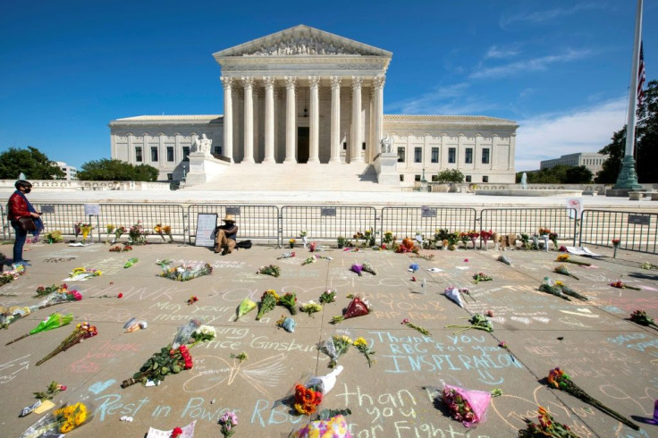
<svg viewBox="0 0 658 438">
<path fill-rule="evenodd" d="M 10 147 L 0 154 L 0 179 L 17 180 L 19 173 L 30 180 L 55 180 L 65 173 L 37 147 Z"/>
</svg>

